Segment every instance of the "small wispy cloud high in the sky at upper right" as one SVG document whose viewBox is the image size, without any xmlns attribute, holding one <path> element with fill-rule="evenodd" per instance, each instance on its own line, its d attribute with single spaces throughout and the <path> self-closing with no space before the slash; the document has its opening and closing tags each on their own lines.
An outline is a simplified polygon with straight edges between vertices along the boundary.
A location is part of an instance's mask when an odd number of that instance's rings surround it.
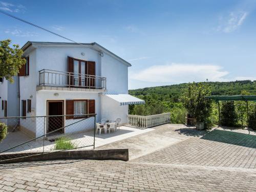
<svg viewBox="0 0 256 192">
<path fill-rule="evenodd" d="M 246 11 L 230 12 L 228 16 L 219 18 L 220 25 L 217 27 L 218 32 L 230 33 L 236 31 L 248 16 Z"/>
</svg>

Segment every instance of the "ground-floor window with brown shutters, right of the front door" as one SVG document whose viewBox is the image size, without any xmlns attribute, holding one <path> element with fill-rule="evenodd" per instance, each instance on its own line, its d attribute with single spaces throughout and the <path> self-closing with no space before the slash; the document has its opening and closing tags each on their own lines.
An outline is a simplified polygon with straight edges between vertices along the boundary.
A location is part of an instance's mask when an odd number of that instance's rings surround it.
<svg viewBox="0 0 256 192">
<path fill-rule="evenodd" d="M 66 119 L 84 118 L 83 114 L 95 114 L 95 100 L 66 100 Z"/>
</svg>

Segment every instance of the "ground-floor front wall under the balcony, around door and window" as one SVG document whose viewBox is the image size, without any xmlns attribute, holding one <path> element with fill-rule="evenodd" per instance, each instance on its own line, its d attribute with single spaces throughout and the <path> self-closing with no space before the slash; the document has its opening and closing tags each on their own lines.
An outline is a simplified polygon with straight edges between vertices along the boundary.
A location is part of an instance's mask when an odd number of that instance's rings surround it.
<svg viewBox="0 0 256 192">
<path fill-rule="evenodd" d="M 58 93 L 58 96 L 54 96 L 54 93 Z M 47 100 L 64 100 L 64 114 L 66 114 L 66 100 L 73 100 L 73 99 L 94 99 L 95 100 L 95 113 L 96 115 L 96 122 L 100 121 L 101 119 L 101 106 L 100 106 L 100 96 L 98 93 L 86 93 L 86 92 L 70 92 L 70 91 L 45 91 L 41 90 L 38 91 L 36 94 L 36 105 L 37 105 L 37 116 L 44 116 L 47 115 Z M 65 119 L 65 126 L 72 124 L 74 122 L 78 122 L 81 119 Z M 88 118 L 81 122 L 78 122 L 74 125 L 68 126 L 65 129 L 65 133 L 72 133 L 72 132 L 81 132 L 81 131 L 88 131 L 94 129 L 94 118 Z M 45 130 L 45 133 L 46 130 Z M 36 137 L 41 136 L 44 134 L 43 126 L 37 125 L 36 130 Z"/>
</svg>

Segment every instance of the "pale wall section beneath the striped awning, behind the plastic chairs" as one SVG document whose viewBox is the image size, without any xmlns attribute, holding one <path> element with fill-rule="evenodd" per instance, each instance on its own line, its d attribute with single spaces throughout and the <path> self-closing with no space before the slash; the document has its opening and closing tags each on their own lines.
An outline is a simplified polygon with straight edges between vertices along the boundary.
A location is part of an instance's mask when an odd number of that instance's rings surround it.
<svg viewBox="0 0 256 192">
<path fill-rule="evenodd" d="M 119 102 L 108 96 L 102 95 L 102 119 L 116 120 L 121 118 L 121 124 L 127 123 L 128 105 L 120 105 Z"/>
</svg>

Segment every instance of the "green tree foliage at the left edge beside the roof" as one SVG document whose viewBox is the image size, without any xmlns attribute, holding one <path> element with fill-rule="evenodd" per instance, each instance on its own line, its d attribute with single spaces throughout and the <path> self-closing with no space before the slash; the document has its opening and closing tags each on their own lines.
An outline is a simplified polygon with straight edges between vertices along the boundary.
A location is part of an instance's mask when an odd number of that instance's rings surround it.
<svg viewBox="0 0 256 192">
<path fill-rule="evenodd" d="M 26 59 L 22 58 L 23 51 L 19 46 L 13 45 L 11 48 L 10 43 L 10 39 L 0 41 L 0 77 L 13 82 L 12 77 L 18 74 Z"/>
</svg>

